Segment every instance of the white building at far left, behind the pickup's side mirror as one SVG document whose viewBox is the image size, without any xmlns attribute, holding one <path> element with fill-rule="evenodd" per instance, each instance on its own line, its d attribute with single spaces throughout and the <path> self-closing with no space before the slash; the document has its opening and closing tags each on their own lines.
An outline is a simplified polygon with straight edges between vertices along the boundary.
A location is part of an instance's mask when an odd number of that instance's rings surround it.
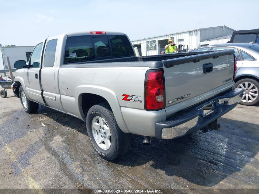
<svg viewBox="0 0 259 194">
<path fill-rule="evenodd" d="M 6 56 L 9 56 L 11 68 L 17 60 L 29 61 L 34 46 L 2 47 L 0 49 L 0 69 L 8 69 Z"/>
</svg>

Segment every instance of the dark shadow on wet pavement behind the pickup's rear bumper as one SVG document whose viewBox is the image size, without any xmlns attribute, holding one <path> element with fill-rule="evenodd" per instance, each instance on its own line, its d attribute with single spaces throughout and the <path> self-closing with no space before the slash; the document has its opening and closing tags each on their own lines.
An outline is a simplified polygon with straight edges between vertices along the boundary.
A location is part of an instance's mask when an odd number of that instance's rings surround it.
<svg viewBox="0 0 259 194">
<path fill-rule="evenodd" d="M 142 137 L 132 135 L 131 149 L 116 163 L 138 166 L 153 161 L 150 167 L 163 170 L 168 176 L 213 186 L 241 171 L 259 151 L 259 125 L 230 119 L 219 122 L 224 126 L 220 132 L 203 134 L 199 130 L 178 139 L 153 138 L 148 147 L 141 144 Z"/>
</svg>

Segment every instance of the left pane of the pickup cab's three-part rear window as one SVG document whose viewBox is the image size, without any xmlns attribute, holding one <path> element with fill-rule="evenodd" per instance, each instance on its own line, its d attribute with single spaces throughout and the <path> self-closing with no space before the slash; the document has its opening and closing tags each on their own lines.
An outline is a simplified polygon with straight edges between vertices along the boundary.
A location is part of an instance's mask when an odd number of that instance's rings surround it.
<svg viewBox="0 0 259 194">
<path fill-rule="evenodd" d="M 72 36 L 67 38 L 64 63 L 93 60 L 93 43 L 89 36 Z"/>
</svg>

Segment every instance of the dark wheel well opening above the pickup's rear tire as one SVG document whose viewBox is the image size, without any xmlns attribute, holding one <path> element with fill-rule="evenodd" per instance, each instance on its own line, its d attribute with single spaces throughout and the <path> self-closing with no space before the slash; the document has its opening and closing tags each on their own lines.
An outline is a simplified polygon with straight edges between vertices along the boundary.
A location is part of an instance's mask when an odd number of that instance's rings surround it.
<svg viewBox="0 0 259 194">
<path fill-rule="evenodd" d="M 93 106 L 99 103 L 108 103 L 108 101 L 97 94 L 84 93 L 82 96 L 82 110 L 86 116 L 88 110 Z M 109 105 L 110 106 L 110 105 Z"/>
</svg>

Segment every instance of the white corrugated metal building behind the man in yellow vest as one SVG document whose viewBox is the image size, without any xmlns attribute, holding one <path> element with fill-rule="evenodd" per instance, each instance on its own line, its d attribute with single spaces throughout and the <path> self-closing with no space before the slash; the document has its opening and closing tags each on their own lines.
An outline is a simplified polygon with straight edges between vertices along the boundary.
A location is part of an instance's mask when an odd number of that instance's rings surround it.
<svg viewBox="0 0 259 194">
<path fill-rule="evenodd" d="M 133 40 L 131 43 L 138 48 L 141 56 L 158 55 L 164 51 L 169 38 L 172 38 L 176 45 L 188 45 L 191 50 L 200 47 L 204 40 L 230 35 L 233 31 L 234 29 L 227 26 L 216 26 Z"/>
</svg>

